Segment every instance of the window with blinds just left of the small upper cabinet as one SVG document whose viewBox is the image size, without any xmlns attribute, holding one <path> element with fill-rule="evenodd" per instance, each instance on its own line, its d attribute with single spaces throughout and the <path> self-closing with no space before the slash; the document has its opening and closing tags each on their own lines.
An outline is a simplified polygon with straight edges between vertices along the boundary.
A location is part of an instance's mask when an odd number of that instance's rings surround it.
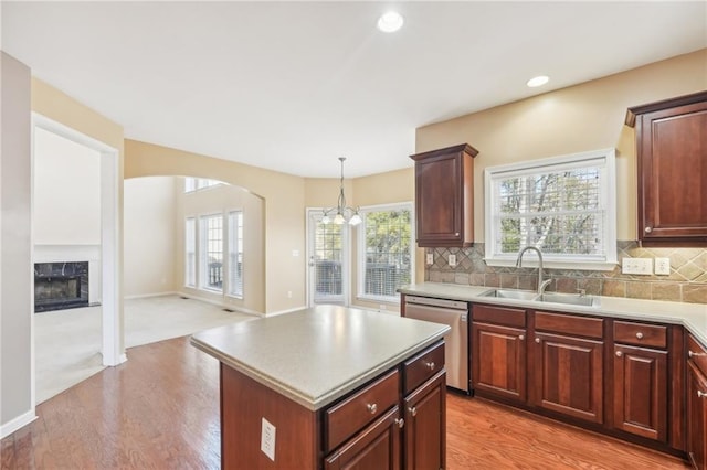
<svg viewBox="0 0 707 470">
<path fill-rule="evenodd" d="M 361 209 L 359 297 L 399 302 L 413 273 L 412 204 Z"/>
</svg>

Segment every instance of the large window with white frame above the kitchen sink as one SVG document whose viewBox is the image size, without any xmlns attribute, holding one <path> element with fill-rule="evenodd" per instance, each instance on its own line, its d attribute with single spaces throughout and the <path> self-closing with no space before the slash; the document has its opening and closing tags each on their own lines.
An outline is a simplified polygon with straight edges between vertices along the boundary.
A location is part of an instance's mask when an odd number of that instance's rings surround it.
<svg viewBox="0 0 707 470">
<path fill-rule="evenodd" d="M 614 150 L 487 168 L 486 263 L 508 265 L 526 246 L 547 266 L 616 263 Z"/>
</svg>

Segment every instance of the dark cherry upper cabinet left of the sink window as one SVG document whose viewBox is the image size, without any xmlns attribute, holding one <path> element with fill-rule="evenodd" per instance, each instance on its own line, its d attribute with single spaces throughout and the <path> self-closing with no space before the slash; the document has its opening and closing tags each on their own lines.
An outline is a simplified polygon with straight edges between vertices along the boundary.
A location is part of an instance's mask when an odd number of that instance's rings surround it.
<svg viewBox="0 0 707 470">
<path fill-rule="evenodd" d="M 410 156 L 415 161 L 418 246 L 474 244 L 474 157 L 464 143 Z"/>
</svg>

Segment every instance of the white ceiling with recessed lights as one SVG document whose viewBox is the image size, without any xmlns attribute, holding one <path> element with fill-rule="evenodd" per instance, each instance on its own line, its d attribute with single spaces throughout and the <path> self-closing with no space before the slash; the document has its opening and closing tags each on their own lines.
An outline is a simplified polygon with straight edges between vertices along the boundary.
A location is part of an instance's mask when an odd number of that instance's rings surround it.
<svg viewBox="0 0 707 470">
<path fill-rule="evenodd" d="M 126 138 L 348 178 L 411 165 L 416 127 L 707 47 L 705 1 L 395 3 L 390 34 L 391 2 L 2 1 L 2 50 Z"/>
</svg>

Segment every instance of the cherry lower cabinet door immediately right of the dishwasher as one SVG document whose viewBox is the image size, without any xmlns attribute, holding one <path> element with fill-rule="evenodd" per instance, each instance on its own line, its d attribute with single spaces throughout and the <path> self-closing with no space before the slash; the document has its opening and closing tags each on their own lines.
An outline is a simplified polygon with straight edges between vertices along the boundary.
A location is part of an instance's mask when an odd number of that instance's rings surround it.
<svg viewBox="0 0 707 470">
<path fill-rule="evenodd" d="M 487 323 L 472 325 L 474 388 L 526 400 L 526 331 Z"/>
</svg>

